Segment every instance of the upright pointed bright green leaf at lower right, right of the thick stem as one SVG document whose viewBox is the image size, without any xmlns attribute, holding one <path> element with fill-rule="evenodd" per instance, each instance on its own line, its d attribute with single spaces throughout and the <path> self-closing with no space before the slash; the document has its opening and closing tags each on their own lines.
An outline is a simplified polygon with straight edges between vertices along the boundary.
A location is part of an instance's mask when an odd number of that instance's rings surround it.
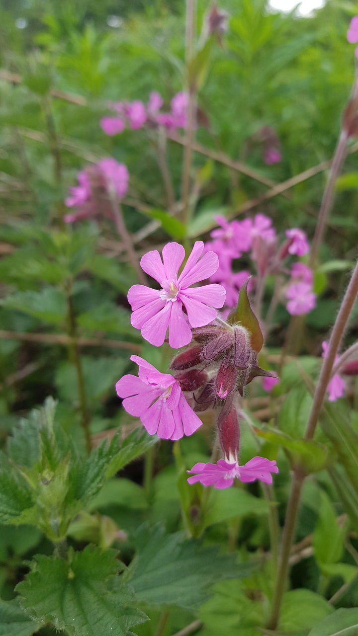
<svg viewBox="0 0 358 636">
<path fill-rule="evenodd" d="M 326 493 L 320 494 L 319 516 L 313 530 L 313 549 L 319 566 L 340 560 L 346 528 L 338 524 L 336 513 Z"/>
</svg>

